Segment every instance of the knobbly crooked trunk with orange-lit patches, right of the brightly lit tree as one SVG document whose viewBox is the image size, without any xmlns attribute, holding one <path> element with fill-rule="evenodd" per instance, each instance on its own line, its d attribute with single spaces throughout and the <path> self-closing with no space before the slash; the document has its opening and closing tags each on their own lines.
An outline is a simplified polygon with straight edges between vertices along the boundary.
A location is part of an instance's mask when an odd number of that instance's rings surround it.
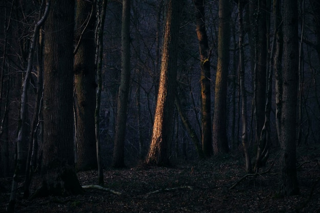
<svg viewBox="0 0 320 213">
<path fill-rule="evenodd" d="M 200 54 L 200 86 L 201 86 L 201 136 L 204 157 L 213 153 L 211 131 L 211 89 L 210 89 L 210 49 L 205 30 L 203 0 L 194 0 L 196 15 L 196 32 L 199 41 Z"/>
</svg>

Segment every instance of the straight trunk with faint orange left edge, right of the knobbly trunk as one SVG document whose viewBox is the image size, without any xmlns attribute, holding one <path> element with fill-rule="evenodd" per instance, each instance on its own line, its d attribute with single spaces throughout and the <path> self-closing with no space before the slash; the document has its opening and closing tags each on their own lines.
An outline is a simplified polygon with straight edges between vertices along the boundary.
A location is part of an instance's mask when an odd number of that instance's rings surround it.
<svg viewBox="0 0 320 213">
<path fill-rule="evenodd" d="M 230 2 L 219 0 L 219 35 L 218 35 L 218 64 L 215 86 L 215 108 L 213 119 L 213 148 L 215 154 L 228 152 L 226 136 L 226 92 L 229 66 L 230 45 Z"/>
</svg>

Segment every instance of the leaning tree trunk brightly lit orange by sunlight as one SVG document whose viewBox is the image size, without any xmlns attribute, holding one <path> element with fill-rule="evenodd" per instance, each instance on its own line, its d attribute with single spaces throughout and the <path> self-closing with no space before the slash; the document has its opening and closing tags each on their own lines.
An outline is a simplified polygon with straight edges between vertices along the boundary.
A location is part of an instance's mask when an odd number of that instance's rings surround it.
<svg viewBox="0 0 320 213">
<path fill-rule="evenodd" d="M 147 164 L 169 163 L 172 136 L 172 116 L 176 85 L 177 44 L 180 2 L 166 1 L 165 35 L 161 59 L 161 72 L 155 108 L 151 144 Z"/>
</svg>

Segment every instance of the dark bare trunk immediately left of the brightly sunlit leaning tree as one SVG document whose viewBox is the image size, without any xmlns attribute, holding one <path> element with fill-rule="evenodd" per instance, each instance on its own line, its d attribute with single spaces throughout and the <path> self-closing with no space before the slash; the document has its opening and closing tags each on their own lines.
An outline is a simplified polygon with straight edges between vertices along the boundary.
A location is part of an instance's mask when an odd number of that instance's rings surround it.
<svg viewBox="0 0 320 213">
<path fill-rule="evenodd" d="M 122 1 L 121 29 L 121 81 L 117 102 L 115 146 L 113 148 L 113 167 L 124 167 L 124 140 L 127 124 L 127 107 L 130 85 L 130 0 Z"/>
</svg>

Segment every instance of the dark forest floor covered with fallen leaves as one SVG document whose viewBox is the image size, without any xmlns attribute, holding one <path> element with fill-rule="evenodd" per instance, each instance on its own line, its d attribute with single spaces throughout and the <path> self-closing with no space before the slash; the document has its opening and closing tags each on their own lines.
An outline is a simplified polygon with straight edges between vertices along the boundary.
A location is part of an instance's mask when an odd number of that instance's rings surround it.
<svg viewBox="0 0 320 213">
<path fill-rule="evenodd" d="M 245 175 L 244 157 L 215 156 L 209 160 L 176 162 L 174 167 L 104 171 L 105 187 L 120 195 L 87 188 L 83 195 L 23 199 L 16 212 L 320 212 L 320 147 L 299 148 L 299 196 L 279 197 L 279 155 L 271 156 L 261 173 Z M 267 171 L 264 173 L 264 171 Z M 79 172 L 82 185 L 96 184 L 97 172 Z M 0 212 L 9 200 L 11 179 L 0 179 Z M 37 177 L 32 190 L 37 187 Z M 22 183 L 21 183 L 22 185 Z M 19 191 L 22 191 L 22 187 Z M 1 191 L 0 191 L 1 192 Z"/>
</svg>

